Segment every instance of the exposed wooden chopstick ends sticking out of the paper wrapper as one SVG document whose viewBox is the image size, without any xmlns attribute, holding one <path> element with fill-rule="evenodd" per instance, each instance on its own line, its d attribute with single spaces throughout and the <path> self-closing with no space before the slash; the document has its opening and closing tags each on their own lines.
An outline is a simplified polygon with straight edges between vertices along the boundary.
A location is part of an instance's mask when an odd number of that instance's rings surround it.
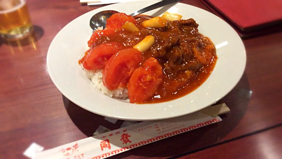
<svg viewBox="0 0 282 159">
<path fill-rule="evenodd" d="M 199 112 L 205 113 L 211 117 L 216 117 L 217 115 L 222 115 L 230 112 L 229 107 L 225 103 L 219 104 L 219 105 L 214 105 L 214 106 L 209 106 L 206 107 Z"/>
</svg>

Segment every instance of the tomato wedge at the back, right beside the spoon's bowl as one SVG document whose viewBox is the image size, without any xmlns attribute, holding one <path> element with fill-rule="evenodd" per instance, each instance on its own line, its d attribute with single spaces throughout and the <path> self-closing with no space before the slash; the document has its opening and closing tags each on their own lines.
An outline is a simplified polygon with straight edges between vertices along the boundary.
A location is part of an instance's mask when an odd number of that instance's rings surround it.
<svg viewBox="0 0 282 159">
<path fill-rule="evenodd" d="M 125 13 L 116 13 L 107 19 L 106 28 L 120 28 L 127 21 L 132 22 L 133 24 L 137 23 L 136 19 L 134 19 L 132 16 L 129 16 Z"/>
</svg>

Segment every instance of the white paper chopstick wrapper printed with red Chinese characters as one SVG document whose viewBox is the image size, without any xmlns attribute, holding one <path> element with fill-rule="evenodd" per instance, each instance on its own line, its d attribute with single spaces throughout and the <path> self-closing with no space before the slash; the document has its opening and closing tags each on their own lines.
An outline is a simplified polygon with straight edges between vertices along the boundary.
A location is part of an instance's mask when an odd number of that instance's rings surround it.
<svg viewBox="0 0 282 159">
<path fill-rule="evenodd" d="M 107 158 L 127 150 L 221 121 L 201 112 L 158 122 L 140 122 L 36 153 L 40 159 Z"/>
</svg>

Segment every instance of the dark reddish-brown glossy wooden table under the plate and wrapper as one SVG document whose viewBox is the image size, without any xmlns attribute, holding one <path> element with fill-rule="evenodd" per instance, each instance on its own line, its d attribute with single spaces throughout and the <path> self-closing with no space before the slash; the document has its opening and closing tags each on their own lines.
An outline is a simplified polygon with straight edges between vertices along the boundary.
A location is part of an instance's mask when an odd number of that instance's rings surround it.
<svg viewBox="0 0 282 159">
<path fill-rule="evenodd" d="M 183 0 L 208 10 L 199 0 Z M 33 37 L 0 42 L 0 158 L 26 158 L 31 143 L 54 148 L 92 136 L 98 125 L 117 129 L 104 117 L 74 105 L 53 85 L 46 68 L 55 35 L 96 7 L 78 0 L 29 0 Z M 209 10 L 208 10 L 209 11 Z M 220 102 L 231 113 L 222 122 L 161 140 L 112 158 L 281 158 L 282 32 L 244 40 L 245 73 Z M 252 91 L 250 99 L 240 90 Z"/>
</svg>

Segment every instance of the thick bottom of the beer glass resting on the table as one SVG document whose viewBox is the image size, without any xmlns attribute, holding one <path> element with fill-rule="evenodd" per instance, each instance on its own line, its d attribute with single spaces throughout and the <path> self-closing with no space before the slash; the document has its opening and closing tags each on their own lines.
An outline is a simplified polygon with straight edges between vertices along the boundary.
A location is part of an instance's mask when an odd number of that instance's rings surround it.
<svg viewBox="0 0 282 159">
<path fill-rule="evenodd" d="M 12 29 L 5 34 L 1 34 L 1 37 L 6 40 L 16 40 L 22 39 L 30 35 L 33 31 L 33 27 L 20 27 L 16 29 Z"/>
</svg>

